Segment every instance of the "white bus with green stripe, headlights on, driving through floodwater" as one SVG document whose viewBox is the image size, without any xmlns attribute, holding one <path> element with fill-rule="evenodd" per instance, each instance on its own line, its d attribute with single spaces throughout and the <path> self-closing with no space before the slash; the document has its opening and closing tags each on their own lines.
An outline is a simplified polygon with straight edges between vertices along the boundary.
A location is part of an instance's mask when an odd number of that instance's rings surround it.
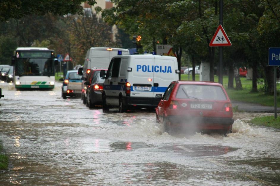
<svg viewBox="0 0 280 186">
<path fill-rule="evenodd" d="M 54 88 L 55 60 L 53 50 L 37 47 L 19 47 L 12 57 L 14 83 L 21 88 Z"/>
</svg>

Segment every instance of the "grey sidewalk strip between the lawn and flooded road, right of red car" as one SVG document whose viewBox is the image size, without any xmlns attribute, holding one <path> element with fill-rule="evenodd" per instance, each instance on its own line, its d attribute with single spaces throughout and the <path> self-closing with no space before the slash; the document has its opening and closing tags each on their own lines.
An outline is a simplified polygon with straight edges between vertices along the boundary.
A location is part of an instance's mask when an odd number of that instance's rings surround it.
<svg viewBox="0 0 280 186">
<path fill-rule="evenodd" d="M 263 106 L 257 103 L 247 103 L 241 101 L 231 100 L 232 107 L 238 106 L 241 112 L 260 112 L 260 113 L 274 113 L 274 106 Z M 278 105 L 280 106 L 280 105 Z M 277 113 L 280 113 L 280 107 L 277 107 Z"/>
</svg>

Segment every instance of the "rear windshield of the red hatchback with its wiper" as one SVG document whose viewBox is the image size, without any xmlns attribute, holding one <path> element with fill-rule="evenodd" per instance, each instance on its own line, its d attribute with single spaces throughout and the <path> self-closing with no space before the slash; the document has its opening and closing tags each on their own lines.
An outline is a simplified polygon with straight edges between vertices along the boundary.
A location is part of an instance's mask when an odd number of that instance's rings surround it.
<svg viewBox="0 0 280 186">
<path fill-rule="evenodd" d="M 199 100 L 227 100 L 222 87 L 213 85 L 181 84 L 177 89 L 176 98 Z"/>
</svg>

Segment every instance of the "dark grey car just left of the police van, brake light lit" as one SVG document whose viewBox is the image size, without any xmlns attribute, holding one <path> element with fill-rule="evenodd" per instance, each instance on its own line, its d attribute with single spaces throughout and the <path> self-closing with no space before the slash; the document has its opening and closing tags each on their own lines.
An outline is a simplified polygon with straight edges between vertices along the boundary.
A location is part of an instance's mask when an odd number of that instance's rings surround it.
<svg viewBox="0 0 280 186">
<path fill-rule="evenodd" d="M 85 81 L 85 86 L 88 86 L 86 89 L 86 106 L 89 108 L 94 108 L 95 105 L 102 105 L 102 91 L 103 83 L 105 78 L 100 77 L 100 70 L 107 69 L 91 69 L 92 77 L 90 81 Z"/>
</svg>

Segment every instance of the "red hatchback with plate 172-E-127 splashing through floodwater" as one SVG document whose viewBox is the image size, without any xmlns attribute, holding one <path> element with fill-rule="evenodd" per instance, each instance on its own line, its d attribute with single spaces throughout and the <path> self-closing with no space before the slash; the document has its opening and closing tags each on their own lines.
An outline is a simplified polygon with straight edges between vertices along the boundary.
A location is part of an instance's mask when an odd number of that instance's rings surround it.
<svg viewBox="0 0 280 186">
<path fill-rule="evenodd" d="M 173 81 L 156 108 L 156 121 L 165 132 L 220 130 L 232 132 L 232 104 L 224 87 L 215 82 Z"/>
</svg>

